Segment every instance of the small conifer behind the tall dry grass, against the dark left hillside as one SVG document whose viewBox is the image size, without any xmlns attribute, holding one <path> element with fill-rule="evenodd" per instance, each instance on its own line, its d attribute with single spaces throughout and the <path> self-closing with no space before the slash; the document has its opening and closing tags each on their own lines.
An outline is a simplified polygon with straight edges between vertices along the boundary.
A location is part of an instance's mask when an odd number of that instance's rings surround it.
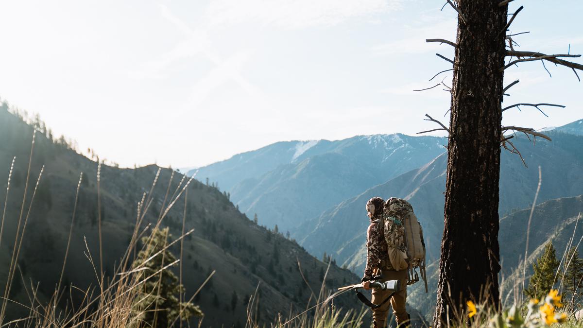
<svg viewBox="0 0 583 328">
<path fill-rule="evenodd" d="M 163 250 L 168 245 L 168 238 L 171 238 L 168 228 L 154 229 L 150 240 L 148 237 L 142 238 L 142 242 L 147 245 L 138 253 L 132 266 L 134 270 L 145 269 L 136 270 L 136 282 L 152 276 L 142 283 L 136 295 L 134 308 L 136 313 L 141 313 L 137 326 L 168 327 L 178 316 L 178 320 L 188 320 L 192 316 L 203 315 L 198 306 L 190 302 L 181 303 L 178 299 L 180 293 L 184 292 L 184 287 L 178 284 L 178 278 L 170 267 L 164 268 L 176 260 L 170 250 Z M 146 262 L 157 252 L 160 254 Z"/>
</svg>

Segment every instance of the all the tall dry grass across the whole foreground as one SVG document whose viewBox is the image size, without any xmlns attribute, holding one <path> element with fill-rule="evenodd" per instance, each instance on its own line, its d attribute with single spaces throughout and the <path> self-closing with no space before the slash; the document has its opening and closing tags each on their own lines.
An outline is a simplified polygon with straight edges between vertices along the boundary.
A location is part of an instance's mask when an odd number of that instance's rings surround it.
<svg viewBox="0 0 583 328">
<path fill-rule="evenodd" d="M 87 260 L 92 264 L 93 272 L 95 274 L 95 284 L 93 287 L 89 287 L 87 289 L 80 289 L 73 285 L 66 285 L 62 286 L 63 281 L 63 274 L 65 272 L 66 261 L 69 253 L 69 245 L 72 238 L 72 226 L 75 222 L 75 214 L 76 214 L 76 205 L 79 195 L 79 189 L 81 187 L 81 182 L 83 179 L 83 175 L 80 175 L 79 182 L 76 190 L 75 196 L 75 203 L 73 206 L 73 213 L 71 218 L 71 229 L 69 230 L 68 236 L 68 243 L 65 251 L 65 257 L 63 260 L 63 266 L 61 270 L 61 277 L 59 278 L 59 282 L 55 291 L 52 295 L 50 295 L 48 300 L 41 300 L 38 293 L 38 284 L 37 285 L 26 285 L 24 284 L 24 291 L 28 296 L 28 303 L 18 303 L 8 298 L 10 295 L 10 289 L 12 288 L 12 282 L 15 279 L 22 279 L 24 281 L 24 277 L 22 272 L 17 265 L 20 250 L 22 249 L 23 240 L 25 240 L 25 232 L 26 226 L 28 223 L 29 215 L 31 206 L 34 201 L 34 197 L 36 196 L 36 191 L 38 187 L 38 183 L 43 176 L 43 169 L 40 170 L 38 174 L 37 182 L 34 186 L 34 191 L 31 195 L 30 200 L 26 198 L 26 190 L 29 186 L 29 179 L 30 179 L 30 163 L 33 158 L 34 154 L 34 135 L 33 135 L 33 143 L 31 145 L 30 150 L 30 157 L 29 157 L 29 166 L 26 175 L 26 184 L 24 187 L 24 196 L 22 200 L 22 204 L 20 206 L 20 214 L 17 221 L 17 229 L 16 229 L 16 237 L 14 242 L 14 247 L 12 249 L 12 254 L 10 257 L 10 266 L 8 268 L 8 281 L 6 283 L 5 291 L 2 297 L 2 306 L 0 309 L 0 328 L 1 327 L 103 327 L 103 328 L 115 328 L 115 327 L 142 327 L 146 326 L 145 323 L 139 321 L 139 317 L 142 313 L 139 313 L 138 310 L 135 309 L 134 304 L 136 302 L 136 298 L 142 295 L 141 287 L 147 280 L 150 279 L 157 279 L 160 277 L 160 273 L 162 270 L 166 270 L 171 266 L 175 266 L 178 263 L 182 263 L 182 248 L 183 248 L 183 239 L 185 236 L 192 233 L 191 231 L 184 231 L 184 220 L 186 216 L 186 194 L 188 190 L 189 184 L 194 179 L 190 177 L 188 180 L 185 176 L 182 177 L 182 180 L 174 190 L 174 192 L 170 195 L 170 184 L 173 181 L 173 175 L 170 177 L 170 181 L 168 182 L 168 186 L 166 189 L 166 194 L 164 196 L 163 206 L 160 209 L 160 212 L 157 214 L 157 221 L 153 227 L 152 224 L 144 224 L 144 218 L 146 213 L 148 212 L 150 205 L 153 202 L 153 194 L 152 191 L 156 186 L 160 175 L 160 169 L 156 173 L 154 177 L 154 181 L 152 183 L 152 187 L 148 193 L 143 193 L 141 201 L 137 205 L 137 215 L 136 215 L 136 223 L 132 232 L 131 240 L 129 241 L 128 247 L 125 250 L 124 255 L 118 261 L 118 265 L 115 267 L 114 275 L 112 277 L 106 277 L 103 271 L 103 251 L 102 251 L 102 236 L 101 236 L 101 213 L 98 212 L 98 224 L 99 224 L 99 259 L 94 261 L 92 253 L 89 251 L 89 246 L 87 246 L 87 242 L 85 242 L 85 254 Z M 2 222 L 0 222 L 0 240 L 2 239 L 3 227 L 4 227 L 4 220 L 5 220 L 5 213 L 6 213 L 6 204 L 8 204 L 9 198 L 9 191 L 10 191 L 10 177 L 12 176 L 12 170 L 14 166 L 14 160 L 12 162 L 12 166 L 10 167 L 10 172 L 8 176 L 8 186 L 6 189 L 6 198 L 4 201 L 5 207 L 3 208 L 2 212 Z M 97 198 L 98 198 L 98 211 L 101 210 L 100 206 L 100 168 L 101 164 L 98 166 L 97 170 Z M 539 187 L 540 187 L 540 180 L 539 180 Z M 168 247 L 173 246 L 175 243 L 180 242 L 180 259 L 174 261 L 173 263 L 168 264 L 167 266 L 160 268 L 159 271 L 149 275 L 145 279 L 138 280 L 134 273 L 141 270 L 141 267 L 133 268 L 131 267 L 132 262 L 135 259 L 136 250 L 138 249 L 145 249 L 150 242 L 152 242 L 152 235 L 147 238 L 147 241 L 143 243 L 142 246 L 139 245 L 138 240 L 142 238 L 142 236 L 146 235 L 150 228 L 159 228 L 159 226 L 163 223 L 164 218 L 167 216 L 168 211 L 177 204 L 177 201 L 183 196 L 185 198 L 184 203 L 184 211 L 183 211 L 183 218 L 182 218 L 182 233 L 181 235 L 173 240 L 172 242 L 167 243 L 163 250 L 168 249 Z M 538 190 L 537 190 L 538 195 Z M 170 196 L 170 197 L 168 197 Z M 535 196 L 536 197 L 536 196 Z M 535 198 L 536 200 L 536 198 Z M 28 205 L 27 205 L 28 204 Z M 26 206 L 27 205 L 27 206 Z M 534 210 L 534 206 L 531 210 L 531 218 L 532 218 L 532 211 Z M 26 214 L 26 215 L 25 215 Z M 530 222 L 530 218 L 529 218 Z M 577 225 L 575 225 L 575 228 Z M 529 233 L 530 226 L 527 228 L 527 236 Z M 153 230 L 153 229 L 152 229 Z M 573 234 L 574 236 L 575 234 Z M 581 243 L 581 240 L 578 240 L 577 246 Z M 575 245 L 574 237 L 572 237 L 568 245 L 566 247 L 565 253 L 563 254 L 563 258 L 561 259 L 561 266 L 557 271 L 556 277 L 557 281 L 559 281 L 559 289 L 562 286 L 562 281 L 565 275 L 565 272 L 568 266 L 571 263 L 573 258 L 567 258 L 567 252 L 571 246 Z M 527 242 L 527 249 L 528 249 L 528 242 Z M 161 250 L 160 252 L 163 252 Z M 160 253 L 159 252 L 159 253 Z M 154 254 L 152 257 L 147 259 L 149 261 L 153 259 L 157 254 Z M 525 255 L 528 255 L 526 253 Z M 527 257 L 525 256 L 525 259 Z M 299 265 L 299 263 L 298 263 Z M 520 267 L 520 266 L 518 266 Z M 517 276 L 522 274 L 522 279 L 518 278 L 518 283 L 514 284 L 514 299 L 512 300 L 512 304 L 510 306 L 506 306 L 503 309 L 491 309 L 484 304 L 487 302 L 478 302 L 477 305 L 477 312 L 475 315 L 472 315 L 470 318 L 468 315 L 468 311 L 466 309 L 458 310 L 457 312 L 454 311 L 454 317 L 449 318 L 450 323 L 448 326 L 472 326 L 472 327 L 482 327 L 482 326 L 491 326 L 491 327 L 521 327 L 521 326 L 539 326 L 543 323 L 543 312 L 540 308 L 535 308 L 532 305 L 528 306 L 522 300 L 522 289 L 519 289 L 519 286 L 522 284 L 524 286 L 525 283 L 525 268 L 526 263 L 522 264 L 522 272 L 519 268 L 517 269 Z M 181 266 L 180 266 L 181 269 Z M 329 266 L 328 266 L 329 269 Z M 180 281 L 182 281 L 182 270 L 180 271 Z M 300 274 L 302 270 L 299 270 Z M 194 296 L 196 296 L 201 289 L 204 287 L 206 282 L 210 280 L 213 276 L 214 271 L 208 276 L 208 278 L 203 282 L 203 284 L 199 287 L 199 289 L 189 297 L 188 301 L 192 301 Z M 328 275 L 328 270 L 326 270 L 326 274 L 324 275 L 324 280 L 326 281 L 326 276 Z M 310 284 L 305 280 L 305 283 L 310 288 Z M 259 286 L 258 286 L 259 288 Z M 258 322 L 258 305 L 261 300 L 258 298 L 257 290 L 254 295 L 251 296 L 250 301 L 247 306 L 247 320 L 245 324 L 245 328 L 259 328 L 259 327 L 291 327 L 291 328 L 328 328 L 328 327 L 360 327 L 363 325 L 363 318 L 366 315 L 367 309 L 362 308 L 359 312 L 355 312 L 353 310 L 343 311 L 342 309 L 336 308 L 333 305 L 333 297 L 329 295 L 329 291 L 325 289 L 324 282 L 322 282 L 321 288 L 319 290 L 318 295 L 315 295 L 314 291 L 311 290 L 312 297 L 308 301 L 308 305 L 303 312 L 300 313 L 293 313 L 290 312 L 287 316 L 282 317 L 279 315 L 278 317 L 273 318 L 273 321 L 268 324 L 260 324 Z M 72 298 L 71 302 L 68 302 L 68 297 L 71 297 L 72 292 L 81 293 L 83 295 L 81 302 L 73 303 Z M 180 295 L 180 300 L 185 301 L 187 299 L 186 295 Z M 487 295 L 484 296 L 483 299 L 487 299 Z M 188 302 L 187 301 L 187 302 Z M 563 323 L 566 327 L 583 327 L 583 324 L 577 323 L 573 320 L 573 313 L 575 311 L 575 304 L 577 300 L 569 300 L 566 302 L 566 306 L 561 308 L 561 313 L 566 314 L 566 323 Z M 10 322 L 6 321 L 6 308 L 9 303 L 15 303 L 18 306 L 22 306 L 28 310 L 28 315 L 26 317 L 22 317 L 20 319 L 12 320 Z M 62 306 L 65 304 L 65 306 Z M 313 303 L 313 305 L 312 305 Z M 557 313 L 559 313 L 559 308 L 556 309 Z M 560 316 L 560 315 L 559 315 Z M 513 323 L 512 320 L 514 318 L 521 317 L 523 320 L 520 323 Z M 529 319 L 530 318 L 530 319 Z M 531 321 L 528 321 L 528 320 Z M 561 319 L 562 320 L 562 319 Z M 530 324 L 527 324 L 530 322 Z M 174 320 L 173 324 L 180 324 L 182 326 L 182 322 L 180 320 L 180 315 L 177 316 Z M 200 325 L 200 322 L 199 322 Z"/>
</svg>

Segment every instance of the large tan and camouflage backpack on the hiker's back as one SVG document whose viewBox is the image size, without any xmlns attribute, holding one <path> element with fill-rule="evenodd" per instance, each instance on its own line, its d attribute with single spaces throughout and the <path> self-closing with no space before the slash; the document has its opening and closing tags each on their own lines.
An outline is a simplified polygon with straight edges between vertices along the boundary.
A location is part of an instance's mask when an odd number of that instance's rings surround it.
<svg viewBox="0 0 583 328">
<path fill-rule="evenodd" d="M 408 285 L 419 281 L 420 274 L 427 292 L 423 228 L 411 204 L 401 198 L 389 198 L 385 203 L 382 226 L 391 266 L 395 270 L 408 269 Z"/>
</svg>

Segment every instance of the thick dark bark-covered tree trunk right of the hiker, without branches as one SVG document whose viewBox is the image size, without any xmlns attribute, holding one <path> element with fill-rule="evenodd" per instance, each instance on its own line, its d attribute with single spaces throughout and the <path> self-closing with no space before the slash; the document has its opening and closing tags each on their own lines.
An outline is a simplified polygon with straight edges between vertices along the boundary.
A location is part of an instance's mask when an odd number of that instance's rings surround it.
<svg viewBox="0 0 583 328">
<path fill-rule="evenodd" d="M 459 0 L 444 233 L 434 327 L 465 302 L 499 304 L 498 180 L 508 6 Z"/>
</svg>

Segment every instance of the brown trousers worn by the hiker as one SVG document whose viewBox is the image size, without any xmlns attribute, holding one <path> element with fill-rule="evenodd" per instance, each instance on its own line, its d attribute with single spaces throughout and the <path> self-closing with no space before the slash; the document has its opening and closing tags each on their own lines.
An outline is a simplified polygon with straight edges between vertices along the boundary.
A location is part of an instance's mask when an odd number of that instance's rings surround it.
<svg viewBox="0 0 583 328">
<path fill-rule="evenodd" d="M 397 324 L 406 324 L 409 320 L 409 315 L 405 309 L 405 301 L 407 299 L 407 270 L 383 270 L 382 271 L 382 281 L 387 280 L 400 280 L 401 281 L 401 291 L 396 292 L 392 297 L 391 301 L 384 303 L 380 308 L 373 309 L 373 327 L 382 328 L 387 322 L 387 314 L 389 312 L 389 306 L 392 306 L 393 313 L 396 317 Z M 382 301 L 387 299 L 391 294 L 391 291 L 375 291 L 373 289 L 372 301 L 374 304 L 380 304 Z"/>
</svg>

